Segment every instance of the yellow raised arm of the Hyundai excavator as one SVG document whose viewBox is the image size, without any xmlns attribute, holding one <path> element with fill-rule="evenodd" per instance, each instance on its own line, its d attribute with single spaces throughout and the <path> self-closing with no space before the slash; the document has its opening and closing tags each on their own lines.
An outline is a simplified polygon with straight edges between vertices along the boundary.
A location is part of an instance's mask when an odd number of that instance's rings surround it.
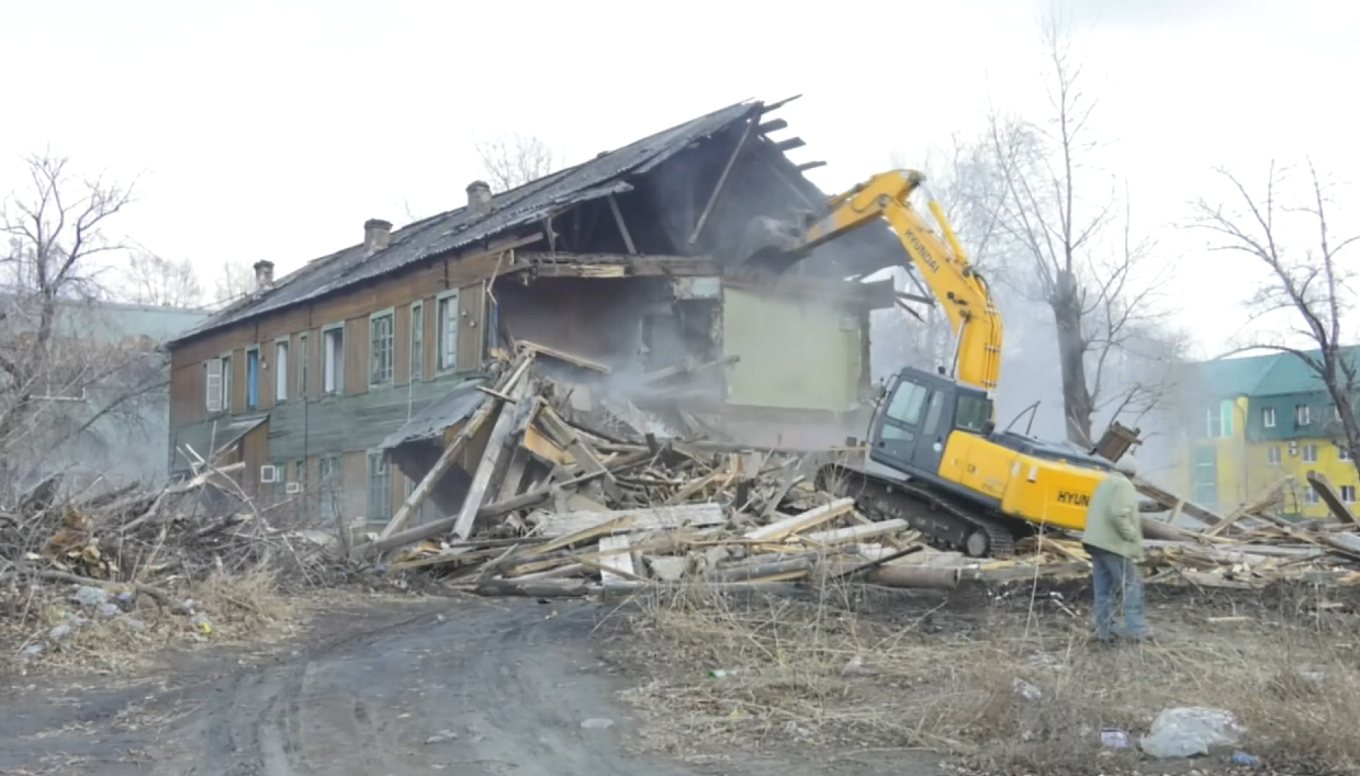
<svg viewBox="0 0 1360 776">
<path fill-rule="evenodd" d="M 911 193 L 923 182 L 925 175 L 915 170 L 880 173 L 832 197 L 823 213 L 792 230 L 793 234 L 782 234 L 778 247 L 787 254 L 805 255 L 821 243 L 885 219 L 949 317 L 957 338 L 955 379 L 986 391 L 996 390 L 1001 371 L 1001 315 L 987 284 L 970 266 L 940 204 L 929 201 L 942 239 L 911 208 Z"/>
</svg>

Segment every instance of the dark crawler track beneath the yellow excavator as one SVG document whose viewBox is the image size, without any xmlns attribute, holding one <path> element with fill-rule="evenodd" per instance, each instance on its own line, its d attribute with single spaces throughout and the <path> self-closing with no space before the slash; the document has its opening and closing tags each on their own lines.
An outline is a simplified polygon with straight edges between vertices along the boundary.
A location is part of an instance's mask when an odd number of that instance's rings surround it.
<svg viewBox="0 0 1360 776">
<path fill-rule="evenodd" d="M 817 473 L 819 485 L 855 500 L 873 521 L 904 519 L 930 544 L 957 549 L 970 557 L 1012 557 L 1013 521 L 978 514 L 976 507 L 940 493 L 923 484 L 888 482 L 855 469 L 828 465 Z"/>
</svg>

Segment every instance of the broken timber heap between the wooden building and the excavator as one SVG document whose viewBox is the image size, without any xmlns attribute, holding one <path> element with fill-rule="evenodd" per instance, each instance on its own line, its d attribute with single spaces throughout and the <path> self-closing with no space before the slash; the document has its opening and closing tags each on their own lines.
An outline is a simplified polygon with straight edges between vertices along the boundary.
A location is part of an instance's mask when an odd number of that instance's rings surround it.
<svg viewBox="0 0 1360 776">
<path fill-rule="evenodd" d="M 658 440 L 654 415 L 604 394 L 589 375 L 549 379 L 534 368 L 540 359 L 592 368 L 532 344 L 502 361 L 499 379 L 479 389 L 484 401 L 447 429 L 439 459 L 355 557 L 382 559 L 393 571 L 438 569 L 495 595 L 680 582 L 740 588 L 813 575 L 910 587 L 959 582 L 962 567 L 945 563 L 957 553 L 926 548 L 906 521 L 873 522 L 853 499 L 813 485 L 819 462 L 845 451 Z M 604 375 L 604 367 L 593 371 Z M 403 530 L 479 436 L 461 511 Z"/>
</svg>

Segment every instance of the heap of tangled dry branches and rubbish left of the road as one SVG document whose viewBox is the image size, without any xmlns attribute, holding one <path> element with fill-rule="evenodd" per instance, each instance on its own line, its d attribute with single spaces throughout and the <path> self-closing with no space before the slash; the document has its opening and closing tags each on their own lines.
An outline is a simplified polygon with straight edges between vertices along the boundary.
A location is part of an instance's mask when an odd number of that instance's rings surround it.
<svg viewBox="0 0 1360 776">
<path fill-rule="evenodd" d="M 190 455 L 192 451 L 188 451 Z M 99 627 L 132 637 L 150 631 L 203 637 L 223 621 L 196 591 L 243 590 L 257 580 L 321 583 L 340 568 L 324 531 L 271 526 L 234 473 L 243 463 L 199 459 L 186 481 L 160 489 L 137 484 L 82 497 L 53 476 L 0 515 L 0 620 L 15 654 L 34 658 L 71 647 Z M 291 516 L 294 510 L 287 511 Z M 279 521 L 283 522 L 283 521 Z M 224 620 L 261 620 L 257 602 Z M 214 609 L 211 612 L 205 610 Z M 98 635 L 90 636 L 98 639 Z"/>
</svg>

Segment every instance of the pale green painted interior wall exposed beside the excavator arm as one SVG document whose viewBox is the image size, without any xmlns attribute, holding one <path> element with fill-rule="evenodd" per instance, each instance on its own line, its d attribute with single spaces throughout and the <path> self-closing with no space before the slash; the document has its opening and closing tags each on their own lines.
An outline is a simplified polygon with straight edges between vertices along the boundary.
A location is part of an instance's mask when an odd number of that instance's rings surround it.
<svg viewBox="0 0 1360 776">
<path fill-rule="evenodd" d="M 839 306 L 724 288 L 728 404 L 843 412 L 858 402 L 860 318 Z"/>
</svg>

